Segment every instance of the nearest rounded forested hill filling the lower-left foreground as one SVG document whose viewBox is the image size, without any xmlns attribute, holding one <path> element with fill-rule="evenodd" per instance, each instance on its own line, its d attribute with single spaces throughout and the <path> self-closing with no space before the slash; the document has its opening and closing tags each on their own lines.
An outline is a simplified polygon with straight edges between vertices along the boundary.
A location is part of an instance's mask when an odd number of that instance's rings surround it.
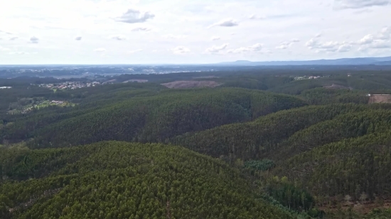
<svg viewBox="0 0 391 219">
<path fill-rule="evenodd" d="M 296 218 L 223 161 L 181 147 L 100 142 L 1 150 L 1 218 Z M 29 179 L 23 181 L 23 179 Z"/>
</svg>

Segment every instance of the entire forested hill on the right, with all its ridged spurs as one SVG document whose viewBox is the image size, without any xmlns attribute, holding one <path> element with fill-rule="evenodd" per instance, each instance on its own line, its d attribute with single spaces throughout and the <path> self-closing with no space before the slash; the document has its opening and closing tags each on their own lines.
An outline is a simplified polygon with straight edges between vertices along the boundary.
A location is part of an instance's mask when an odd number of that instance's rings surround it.
<svg viewBox="0 0 391 219">
<path fill-rule="evenodd" d="M 255 162 L 328 201 L 390 198 L 391 105 L 305 106 L 173 139 L 229 163 Z M 261 160 L 264 161 L 261 161 Z M 273 165 L 265 163 L 267 160 Z M 259 164 L 257 164 L 259 162 Z M 262 166 L 263 165 L 263 166 Z"/>
</svg>

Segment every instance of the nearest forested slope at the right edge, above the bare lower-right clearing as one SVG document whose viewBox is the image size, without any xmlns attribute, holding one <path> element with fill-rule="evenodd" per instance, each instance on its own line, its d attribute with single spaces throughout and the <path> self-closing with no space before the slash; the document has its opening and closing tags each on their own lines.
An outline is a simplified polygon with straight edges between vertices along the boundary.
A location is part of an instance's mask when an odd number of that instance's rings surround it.
<svg viewBox="0 0 391 219">
<path fill-rule="evenodd" d="M 389 200 L 390 130 L 322 145 L 288 159 L 276 172 L 316 193 L 319 201 Z"/>
</svg>

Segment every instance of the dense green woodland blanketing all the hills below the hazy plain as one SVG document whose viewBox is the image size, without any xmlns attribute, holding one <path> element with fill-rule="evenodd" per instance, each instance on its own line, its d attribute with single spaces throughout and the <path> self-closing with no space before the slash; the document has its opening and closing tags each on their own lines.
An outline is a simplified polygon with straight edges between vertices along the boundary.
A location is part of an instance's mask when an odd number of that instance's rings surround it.
<svg viewBox="0 0 391 219">
<path fill-rule="evenodd" d="M 1 79 L 0 218 L 390 218 L 390 73 Z M 36 99 L 74 104 L 9 113 Z"/>
</svg>

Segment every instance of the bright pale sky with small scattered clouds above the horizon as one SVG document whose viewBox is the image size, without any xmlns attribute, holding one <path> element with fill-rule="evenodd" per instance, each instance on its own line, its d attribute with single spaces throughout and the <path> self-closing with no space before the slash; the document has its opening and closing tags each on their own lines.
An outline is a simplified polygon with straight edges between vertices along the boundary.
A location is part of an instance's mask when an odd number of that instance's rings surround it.
<svg viewBox="0 0 391 219">
<path fill-rule="evenodd" d="M 0 0 L 0 64 L 391 56 L 391 0 Z"/>
</svg>

